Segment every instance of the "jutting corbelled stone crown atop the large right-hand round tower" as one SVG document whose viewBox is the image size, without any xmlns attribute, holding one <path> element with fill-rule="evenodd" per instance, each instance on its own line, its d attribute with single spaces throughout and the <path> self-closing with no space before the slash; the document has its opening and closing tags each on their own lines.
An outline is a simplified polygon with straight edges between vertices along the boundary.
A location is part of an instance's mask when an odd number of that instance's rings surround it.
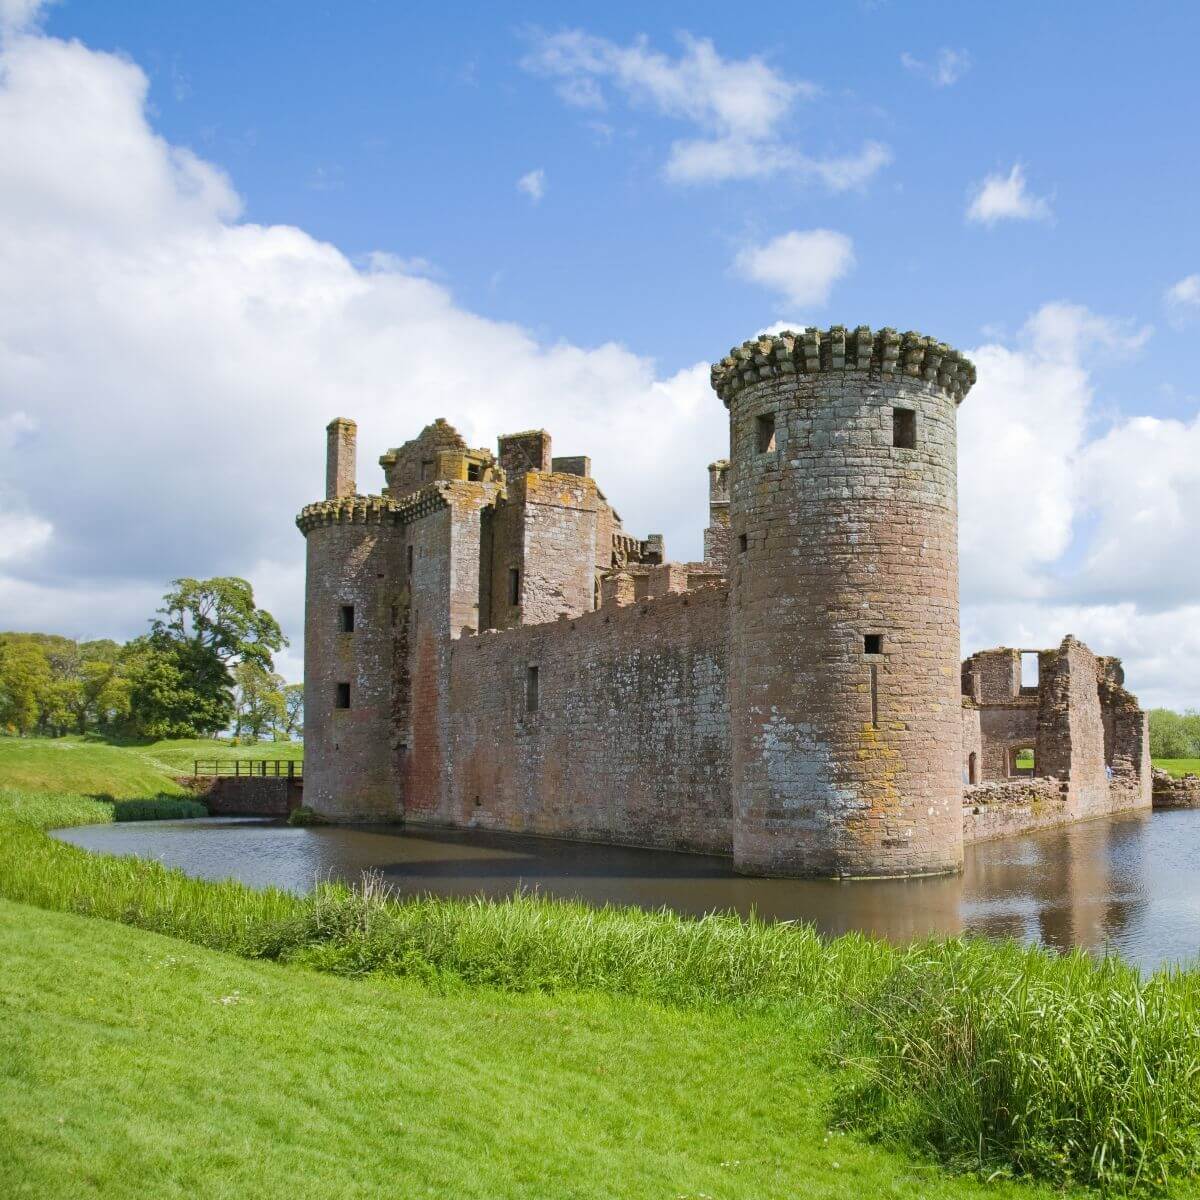
<svg viewBox="0 0 1200 1200">
<path fill-rule="evenodd" d="M 713 364 L 712 385 L 728 407 L 743 388 L 781 374 L 822 371 L 878 371 L 937 383 L 961 403 L 976 382 L 974 364 L 943 342 L 922 334 L 894 329 L 872 332 L 869 326 L 846 329 L 786 329 L 734 346 Z"/>
</svg>

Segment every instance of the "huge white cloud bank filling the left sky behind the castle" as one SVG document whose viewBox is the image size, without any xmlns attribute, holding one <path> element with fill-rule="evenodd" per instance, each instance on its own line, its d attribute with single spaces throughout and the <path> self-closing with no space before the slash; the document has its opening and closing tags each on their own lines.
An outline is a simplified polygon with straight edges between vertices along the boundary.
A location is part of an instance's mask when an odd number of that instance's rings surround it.
<svg viewBox="0 0 1200 1200">
<path fill-rule="evenodd" d="M 173 576 L 234 572 L 299 646 L 293 517 L 343 412 L 364 490 L 434 416 L 487 445 L 552 413 L 631 530 L 698 556 L 726 422 L 707 365 L 542 343 L 458 306 L 420 259 L 356 265 L 239 221 L 227 176 L 157 136 L 145 100 L 137 66 L 78 42 L 0 58 L 0 628 L 128 636 Z M 665 442 L 695 463 L 666 494 Z"/>
</svg>

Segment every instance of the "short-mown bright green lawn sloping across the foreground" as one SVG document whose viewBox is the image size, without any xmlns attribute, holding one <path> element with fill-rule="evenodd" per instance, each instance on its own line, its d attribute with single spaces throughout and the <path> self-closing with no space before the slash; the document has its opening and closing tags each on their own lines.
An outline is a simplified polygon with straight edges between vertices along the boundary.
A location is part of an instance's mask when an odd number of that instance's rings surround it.
<svg viewBox="0 0 1200 1200">
<path fill-rule="evenodd" d="M 827 1130 L 792 1027 L 437 995 L 0 901 L 0 1194 L 1034 1198 Z"/>
</svg>

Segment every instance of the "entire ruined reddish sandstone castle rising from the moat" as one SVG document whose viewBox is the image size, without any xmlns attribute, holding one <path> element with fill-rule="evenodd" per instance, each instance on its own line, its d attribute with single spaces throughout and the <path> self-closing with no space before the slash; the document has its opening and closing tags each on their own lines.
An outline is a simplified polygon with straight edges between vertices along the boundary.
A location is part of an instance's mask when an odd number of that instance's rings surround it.
<svg viewBox="0 0 1200 1200">
<path fill-rule="evenodd" d="M 971 362 L 835 326 L 736 347 L 702 563 L 628 533 L 587 457 L 443 420 L 305 508 L 305 802 L 732 854 L 749 874 L 958 870 L 964 840 L 1150 805 L 1121 665 L 959 660 Z"/>
</svg>

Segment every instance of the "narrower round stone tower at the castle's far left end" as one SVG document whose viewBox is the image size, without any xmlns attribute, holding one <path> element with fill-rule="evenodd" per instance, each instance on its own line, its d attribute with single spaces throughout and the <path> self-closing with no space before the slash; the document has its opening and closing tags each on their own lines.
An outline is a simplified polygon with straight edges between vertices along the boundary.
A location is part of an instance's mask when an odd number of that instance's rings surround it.
<svg viewBox="0 0 1200 1200">
<path fill-rule="evenodd" d="M 401 553 L 383 497 L 311 504 L 306 539 L 305 800 L 338 821 L 397 817 L 392 757 L 392 606 Z M 346 628 L 346 611 L 353 630 Z"/>
</svg>

